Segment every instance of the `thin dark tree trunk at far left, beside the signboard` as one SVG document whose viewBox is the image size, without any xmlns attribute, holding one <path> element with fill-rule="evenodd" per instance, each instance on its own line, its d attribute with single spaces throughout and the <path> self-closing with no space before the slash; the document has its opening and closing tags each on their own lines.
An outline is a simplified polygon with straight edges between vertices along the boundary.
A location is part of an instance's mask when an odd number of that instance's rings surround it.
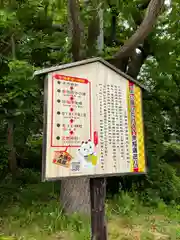
<svg viewBox="0 0 180 240">
<path fill-rule="evenodd" d="M 17 173 L 17 161 L 16 161 L 16 150 L 14 147 L 14 123 L 11 119 L 8 119 L 8 164 L 9 170 L 12 173 L 13 178 L 16 177 Z"/>
</svg>

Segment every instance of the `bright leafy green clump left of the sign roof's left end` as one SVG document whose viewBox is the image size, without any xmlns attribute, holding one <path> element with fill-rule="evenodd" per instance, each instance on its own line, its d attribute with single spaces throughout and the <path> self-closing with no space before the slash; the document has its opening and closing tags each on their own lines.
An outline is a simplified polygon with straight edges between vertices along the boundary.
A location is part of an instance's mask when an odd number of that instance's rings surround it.
<svg viewBox="0 0 180 240">
<path fill-rule="evenodd" d="M 31 92 L 33 92 L 32 95 L 35 95 L 37 87 L 32 79 L 33 68 L 27 62 L 13 60 L 9 62 L 8 66 L 9 74 L 0 79 L 0 84 L 4 87 L 0 104 L 2 108 L 6 108 L 5 112 L 7 113 L 9 109 L 22 108 L 29 101 Z"/>
</svg>

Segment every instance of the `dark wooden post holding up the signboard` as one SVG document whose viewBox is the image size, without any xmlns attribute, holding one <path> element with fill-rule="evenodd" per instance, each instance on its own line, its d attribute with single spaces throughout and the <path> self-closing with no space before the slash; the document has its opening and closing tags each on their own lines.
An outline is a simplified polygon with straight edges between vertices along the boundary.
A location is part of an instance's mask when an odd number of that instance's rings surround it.
<svg viewBox="0 0 180 240">
<path fill-rule="evenodd" d="M 107 240 L 105 220 L 106 179 L 90 179 L 91 240 Z"/>
</svg>

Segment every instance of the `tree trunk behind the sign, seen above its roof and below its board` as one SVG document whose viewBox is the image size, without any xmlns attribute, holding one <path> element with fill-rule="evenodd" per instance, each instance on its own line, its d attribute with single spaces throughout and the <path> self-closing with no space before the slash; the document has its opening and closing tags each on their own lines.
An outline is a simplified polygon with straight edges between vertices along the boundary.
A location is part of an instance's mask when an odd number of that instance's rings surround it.
<svg viewBox="0 0 180 240">
<path fill-rule="evenodd" d="M 79 14 L 78 0 L 68 0 L 70 37 L 72 39 L 72 57 L 81 60 L 82 23 Z M 61 181 L 60 201 L 66 213 L 90 214 L 90 187 L 87 178 L 71 178 Z"/>
</svg>

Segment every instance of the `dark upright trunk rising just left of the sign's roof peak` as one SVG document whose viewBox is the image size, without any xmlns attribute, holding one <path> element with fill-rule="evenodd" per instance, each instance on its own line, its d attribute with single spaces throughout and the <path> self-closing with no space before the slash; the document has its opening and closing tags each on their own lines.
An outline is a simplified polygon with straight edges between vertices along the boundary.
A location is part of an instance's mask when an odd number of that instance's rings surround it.
<svg viewBox="0 0 180 240">
<path fill-rule="evenodd" d="M 74 61 L 81 59 L 81 34 L 82 24 L 80 21 L 80 10 L 78 0 L 68 0 L 69 21 L 72 39 L 72 55 Z"/>
</svg>

